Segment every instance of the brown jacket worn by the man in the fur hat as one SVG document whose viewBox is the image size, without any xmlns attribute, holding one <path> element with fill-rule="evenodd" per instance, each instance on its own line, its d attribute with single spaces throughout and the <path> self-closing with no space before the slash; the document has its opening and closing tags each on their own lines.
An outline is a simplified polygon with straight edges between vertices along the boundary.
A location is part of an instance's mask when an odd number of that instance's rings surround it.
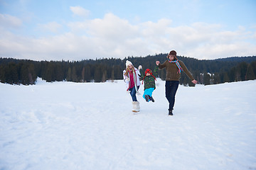
<svg viewBox="0 0 256 170">
<path fill-rule="evenodd" d="M 194 78 L 188 71 L 186 65 L 181 60 L 178 60 L 178 63 L 181 65 L 183 72 L 185 72 L 192 81 Z M 179 81 L 179 79 L 181 79 L 181 74 L 179 74 L 178 67 L 175 63 L 166 60 L 163 64 L 159 64 L 158 67 L 159 69 L 166 68 L 166 81 Z"/>
</svg>

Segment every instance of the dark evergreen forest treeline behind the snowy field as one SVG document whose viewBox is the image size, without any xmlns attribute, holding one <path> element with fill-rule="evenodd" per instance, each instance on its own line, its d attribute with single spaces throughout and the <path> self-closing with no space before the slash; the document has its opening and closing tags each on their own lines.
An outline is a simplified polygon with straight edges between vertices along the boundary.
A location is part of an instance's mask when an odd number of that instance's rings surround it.
<svg viewBox="0 0 256 170">
<path fill-rule="evenodd" d="M 6 84 L 35 84 L 37 77 L 52 81 L 104 82 L 123 79 L 126 60 L 134 67 L 141 64 L 143 70 L 156 67 L 156 60 L 163 63 L 167 54 L 146 57 L 126 57 L 121 59 L 97 59 L 82 61 L 33 61 L 0 58 L 0 81 Z M 221 84 L 224 82 L 256 79 L 256 56 L 228 57 L 218 60 L 197 60 L 178 57 L 182 60 L 199 84 Z M 158 77 L 165 79 L 166 70 L 158 71 Z M 181 73 L 180 84 L 193 86 L 186 74 Z"/>
</svg>

